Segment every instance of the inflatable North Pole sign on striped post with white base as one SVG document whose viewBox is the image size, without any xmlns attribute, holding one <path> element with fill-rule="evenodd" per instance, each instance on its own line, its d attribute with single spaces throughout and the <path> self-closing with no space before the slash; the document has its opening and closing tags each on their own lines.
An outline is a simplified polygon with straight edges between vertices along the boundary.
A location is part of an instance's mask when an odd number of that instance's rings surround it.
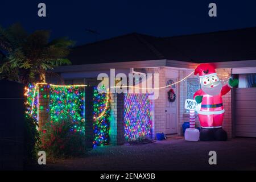
<svg viewBox="0 0 256 182">
<path fill-rule="evenodd" d="M 195 110 L 200 110 L 201 104 L 197 104 L 195 100 L 187 99 L 185 100 L 185 109 L 189 109 L 189 129 L 185 130 L 185 140 L 197 142 L 199 140 L 199 130 L 195 129 Z"/>
</svg>

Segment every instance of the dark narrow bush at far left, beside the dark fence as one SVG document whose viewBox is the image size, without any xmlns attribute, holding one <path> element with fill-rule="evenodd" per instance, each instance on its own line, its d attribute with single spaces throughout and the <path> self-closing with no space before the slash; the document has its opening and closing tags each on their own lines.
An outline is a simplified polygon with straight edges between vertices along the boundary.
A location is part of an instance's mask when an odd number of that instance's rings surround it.
<svg viewBox="0 0 256 182">
<path fill-rule="evenodd" d="M 38 147 L 39 133 L 36 130 L 38 124 L 30 115 L 25 114 L 24 119 L 24 156 L 25 160 L 34 160 L 36 158 L 36 147 Z"/>
</svg>

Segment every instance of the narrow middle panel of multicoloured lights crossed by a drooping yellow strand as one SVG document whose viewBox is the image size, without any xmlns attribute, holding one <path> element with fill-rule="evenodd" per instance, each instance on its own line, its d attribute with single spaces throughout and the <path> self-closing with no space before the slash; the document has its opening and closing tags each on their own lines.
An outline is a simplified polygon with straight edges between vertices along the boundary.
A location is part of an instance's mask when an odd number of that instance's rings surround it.
<svg viewBox="0 0 256 182">
<path fill-rule="evenodd" d="M 93 146 L 103 146 L 109 143 L 109 92 L 98 93 L 97 87 L 93 89 Z"/>
</svg>

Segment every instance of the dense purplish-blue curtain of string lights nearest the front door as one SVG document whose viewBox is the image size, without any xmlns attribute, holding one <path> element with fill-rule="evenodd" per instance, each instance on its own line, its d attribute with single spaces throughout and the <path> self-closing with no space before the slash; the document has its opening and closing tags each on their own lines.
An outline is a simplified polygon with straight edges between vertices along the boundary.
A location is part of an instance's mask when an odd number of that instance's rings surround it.
<svg viewBox="0 0 256 182">
<path fill-rule="evenodd" d="M 151 104 L 148 94 L 125 94 L 125 138 L 137 140 L 151 134 Z"/>
</svg>

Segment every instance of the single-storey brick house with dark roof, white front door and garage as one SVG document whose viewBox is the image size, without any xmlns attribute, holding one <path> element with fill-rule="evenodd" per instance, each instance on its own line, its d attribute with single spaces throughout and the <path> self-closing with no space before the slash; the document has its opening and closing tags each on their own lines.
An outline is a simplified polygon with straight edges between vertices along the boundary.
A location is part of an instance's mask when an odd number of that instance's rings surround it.
<svg viewBox="0 0 256 182">
<path fill-rule="evenodd" d="M 132 33 L 73 48 L 69 55 L 73 64 L 58 67 L 55 72 L 60 73 L 65 84 L 89 85 L 97 85 L 98 74 L 109 75 L 112 68 L 115 75 L 159 73 L 159 87 L 164 87 L 183 80 L 198 64 L 212 63 L 224 84 L 230 76 L 240 80 L 238 88 L 223 97 L 223 127 L 228 137 L 256 137 L 255 40 L 256 27 L 164 38 Z M 184 101 L 199 88 L 199 78 L 192 74 L 172 86 L 174 102 L 168 101 L 170 88 L 159 89 L 158 99 L 151 100 L 152 138 L 156 133 L 183 135 L 181 126 L 189 121 Z M 112 106 L 116 117 L 110 127 L 116 130 L 116 142 L 123 135 L 119 134 L 123 132 L 123 113 L 118 117 L 118 104 Z M 196 125 L 200 127 L 198 118 Z"/>
</svg>

